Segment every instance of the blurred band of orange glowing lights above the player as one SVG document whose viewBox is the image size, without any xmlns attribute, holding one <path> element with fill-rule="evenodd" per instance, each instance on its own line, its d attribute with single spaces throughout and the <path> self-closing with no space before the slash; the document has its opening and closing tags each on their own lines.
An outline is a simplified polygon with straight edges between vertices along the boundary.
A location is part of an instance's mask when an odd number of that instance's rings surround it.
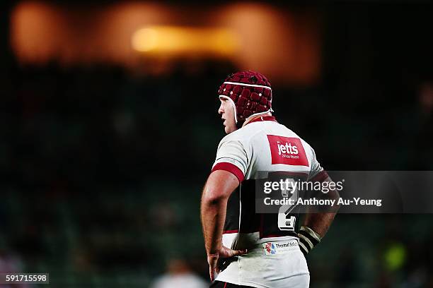
<svg viewBox="0 0 433 288">
<path fill-rule="evenodd" d="M 196 13 L 201 17 L 190 17 Z M 71 9 L 24 0 L 11 11 L 10 42 L 24 64 L 115 63 L 149 71 L 178 59 L 219 57 L 273 83 L 311 84 L 321 72 L 316 14 L 248 2 L 186 9 L 122 1 Z"/>
</svg>

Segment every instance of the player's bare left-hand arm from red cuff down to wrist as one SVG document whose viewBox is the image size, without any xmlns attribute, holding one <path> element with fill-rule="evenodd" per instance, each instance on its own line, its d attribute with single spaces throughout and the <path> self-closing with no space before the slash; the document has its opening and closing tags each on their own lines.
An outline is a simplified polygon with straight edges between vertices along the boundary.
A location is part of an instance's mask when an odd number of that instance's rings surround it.
<svg viewBox="0 0 433 288">
<path fill-rule="evenodd" d="M 212 172 L 204 185 L 200 215 L 208 255 L 221 250 L 227 200 L 238 185 L 236 176 L 224 170 Z"/>
</svg>

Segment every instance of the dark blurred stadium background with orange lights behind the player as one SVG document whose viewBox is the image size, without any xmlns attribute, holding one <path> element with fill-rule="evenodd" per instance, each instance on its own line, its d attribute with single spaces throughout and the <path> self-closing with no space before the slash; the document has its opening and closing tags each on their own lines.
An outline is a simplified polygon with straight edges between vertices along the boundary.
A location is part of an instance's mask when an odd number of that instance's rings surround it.
<svg viewBox="0 0 433 288">
<path fill-rule="evenodd" d="M 239 69 L 326 169 L 433 168 L 427 1 L 0 5 L 3 270 L 148 287 L 183 259 L 206 278 L 200 190 Z M 311 287 L 433 287 L 432 220 L 338 215 Z"/>
</svg>

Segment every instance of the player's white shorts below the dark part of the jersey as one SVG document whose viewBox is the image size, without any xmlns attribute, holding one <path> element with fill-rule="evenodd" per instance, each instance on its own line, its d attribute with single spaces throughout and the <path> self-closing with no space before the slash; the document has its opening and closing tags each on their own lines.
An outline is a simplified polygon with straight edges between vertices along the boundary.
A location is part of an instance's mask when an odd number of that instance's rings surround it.
<svg viewBox="0 0 433 288">
<path fill-rule="evenodd" d="M 219 273 L 218 281 L 258 288 L 307 288 L 310 273 L 298 239 L 261 239 Z"/>
</svg>

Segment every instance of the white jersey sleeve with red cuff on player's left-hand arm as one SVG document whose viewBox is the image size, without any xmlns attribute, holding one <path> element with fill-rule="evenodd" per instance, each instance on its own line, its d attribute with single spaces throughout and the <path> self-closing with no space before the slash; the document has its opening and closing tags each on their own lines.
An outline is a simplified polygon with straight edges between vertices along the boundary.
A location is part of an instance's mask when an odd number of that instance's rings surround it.
<svg viewBox="0 0 433 288">
<path fill-rule="evenodd" d="M 218 145 L 217 159 L 212 172 L 226 170 L 234 174 L 242 182 L 248 167 L 248 156 L 239 140 L 221 140 Z"/>
</svg>

